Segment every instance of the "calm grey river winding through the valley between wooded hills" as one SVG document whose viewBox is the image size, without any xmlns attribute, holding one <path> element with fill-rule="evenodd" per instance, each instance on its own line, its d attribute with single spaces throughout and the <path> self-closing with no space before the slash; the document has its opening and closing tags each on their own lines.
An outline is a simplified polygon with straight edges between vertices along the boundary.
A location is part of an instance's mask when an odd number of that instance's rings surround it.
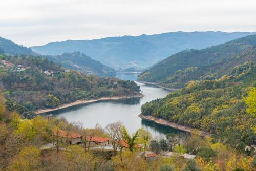
<svg viewBox="0 0 256 171">
<path fill-rule="evenodd" d="M 117 75 L 116 77 L 124 80 L 136 80 L 137 75 Z M 140 127 L 144 127 L 151 132 L 155 138 L 163 138 L 167 133 L 178 133 L 169 126 L 163 126 L 152 121 L 142 120 L 138 117 L 141 105 L 157 98 L 165 97 L 169 91 L 153 86 L 139 83 L 143 98 L 99 101 L 90 104 L 71 106 L 51 112 L 57 117 L 65 117 L 69 122 L 83 122 L 85 127 L 94 127 L 97 123 L 105 127 L 108 123 L 122 121 L 127 131 L 134 133 Z"/>
</svg>

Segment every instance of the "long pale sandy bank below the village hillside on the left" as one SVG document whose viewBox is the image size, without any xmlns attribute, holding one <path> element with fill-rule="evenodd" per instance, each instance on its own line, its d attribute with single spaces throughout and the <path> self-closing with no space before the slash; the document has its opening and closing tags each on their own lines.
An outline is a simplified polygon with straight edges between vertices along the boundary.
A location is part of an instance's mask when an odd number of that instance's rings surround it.
<svg viewBox="0 0 256 171">
<path fill-rule="evenodd" d="M 88 104 L 88 103 L 94 103 L 94 102 L 98 102 L 98 101 L 106 101 L 106 100 L 120 100 L 120 99 L 130 99 L 130 98 L 142 98 L 145 95 L 143 94 L 138 94 L 138 95 L 129 95 L 129 96 L 110 96 L 110 97 L 101 97 L 98 99 L 90 99 L 90 100 L 77 100 L 71 103 L 67 103 L 67 104 L 62 104 L 60 106 L 58 106 L 57 108 L 51 108 L 51 109 L 38 109 L 35 112 L 35 114 L 39 115 L 39 114 L 44 114 L 47 112 L 53 112 L 53 111 L 57 111 L 60 109 L 65 109 L 65 108 L 69 108 L 71 106 L 75 106 L 75 105 L 79 105 L 79 104 Z"/>
</svg>

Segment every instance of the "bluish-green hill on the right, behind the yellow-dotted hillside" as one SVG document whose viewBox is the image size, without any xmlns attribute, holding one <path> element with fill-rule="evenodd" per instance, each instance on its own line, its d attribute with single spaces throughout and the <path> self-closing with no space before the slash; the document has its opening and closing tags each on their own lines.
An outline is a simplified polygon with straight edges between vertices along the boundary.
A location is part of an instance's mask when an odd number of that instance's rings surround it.
<svg viewBox="0 0 256 171">
<path fill-rule="evenodd" d="M 158 62 L 138 80 L 181 88 L 190 80 L 218 79 L 237 65 L 256 60 L 256 34 L 202 50 L 185 50 Z"/>
</svg>

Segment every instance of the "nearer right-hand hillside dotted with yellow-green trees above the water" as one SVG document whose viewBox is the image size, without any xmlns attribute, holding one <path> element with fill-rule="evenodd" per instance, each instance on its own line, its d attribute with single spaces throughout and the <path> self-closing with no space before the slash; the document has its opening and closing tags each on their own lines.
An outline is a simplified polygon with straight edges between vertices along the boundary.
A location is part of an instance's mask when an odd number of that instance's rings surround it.
<svg viewBox="0 0 256 171">
<path fill-rule="evenodd" d="M 141 111 L 210 132 L 215 141 L 243 148 L 256 143 L 255 76 L 256 62 L 245 62 L 220 79 L 190 81 L 180 91 L 144 104 Z"/>
</svg>

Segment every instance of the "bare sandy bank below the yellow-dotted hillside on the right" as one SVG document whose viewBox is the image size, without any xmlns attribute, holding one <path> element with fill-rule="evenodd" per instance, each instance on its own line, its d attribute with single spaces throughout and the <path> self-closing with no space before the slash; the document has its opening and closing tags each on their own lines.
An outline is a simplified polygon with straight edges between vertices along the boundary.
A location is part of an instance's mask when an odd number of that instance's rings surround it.
<svg viewBox="0 0 256 171">
<path fill-rule="evenodd" d="M 150 115 L 142 115 L 142 114 L 140 114 L 138 116 L 141 119 L 153 121 L 155 123 L 158 123 L 158 124 L 161 124 L 161 125 L 165 125 L 165 126 L 170 126 L 170 127 L 174 128 L 174 129 L 185 131 L 185 132 L 189 132 L 189 133 L 191 133 L 193 130 L 195 130 L 193 127 L 181 125 L 181 124 L 175 123 L 175 122 L 170 122 L 170 121 L 164 120 L 162 118 L 156 118 L 156 117 L 150 116 Z M 208 133 L 208 132 L 200 131 L 200 130 L 198 130 L 198 131 L 200 132 L 201 136 L 204 136 L 204 137 L 211 136 L 211 134 Z"/>
</svg>

